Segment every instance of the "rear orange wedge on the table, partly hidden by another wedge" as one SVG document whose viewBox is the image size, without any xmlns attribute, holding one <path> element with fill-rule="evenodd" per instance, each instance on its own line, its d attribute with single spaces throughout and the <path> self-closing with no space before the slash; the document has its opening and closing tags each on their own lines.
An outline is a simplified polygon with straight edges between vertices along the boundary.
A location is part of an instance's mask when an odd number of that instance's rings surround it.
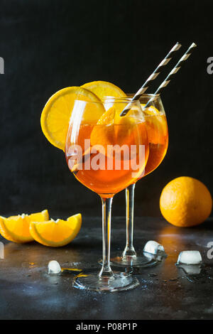
<svg viewBox="0 0 213 334">
<path fill-rule="evenodd" d="M 33 241 L 33 237 L 29 231 L 30 223 L 33 220 L 42 222 L 49 219 L 48 210 L 32 213 L 31 215 L 16 215 L 11 217 L 0 217 L 1 235 L 13 242 L 25 243 Z"/>
</svg>

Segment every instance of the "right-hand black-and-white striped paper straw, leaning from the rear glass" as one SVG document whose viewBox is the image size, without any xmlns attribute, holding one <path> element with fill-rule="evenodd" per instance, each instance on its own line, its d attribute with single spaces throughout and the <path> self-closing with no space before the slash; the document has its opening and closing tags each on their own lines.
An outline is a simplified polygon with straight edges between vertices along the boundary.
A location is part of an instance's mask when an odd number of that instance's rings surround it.
<svg viewBox="0 0 213 334">
<path fill-rule="evenodd" d="M 162 92 L 163 88 L 165 88 L 168 85 L 168 83 L 172 79 L 173 75 L 180 70 L 182 63 L 184 63 L 185 60 L 187 60 L 190 57 L 193 48 L 196 48 L 196 46 L 197 45 L 195 43 L 192 43 L 190 45 L 190 48 L 188 48 L 188 50 L 186 51 L 186 53 L 184 55 L 182 55 L 182 57 L 180 58 L 180 60 L 178 61 L 178 63 L 175 65 L 175 67 L 173 68 L 173 70 L 170 71 L 170 73 L 168 74 L 168 76 L 165 78 L 165 80 L 162 82 L 162 84 L 158 87 L 158 90 L 156 90 L 154 92 L 154 95 L 160 94 Z M 153 101 L 153 99 L 155 99 L 155 97 L 151 97 L 151 99 L 148 100 L 146 106 L 143 107 L 143 110 L 148 107 L 148 104 L 150 104 Z"/>
</svg>

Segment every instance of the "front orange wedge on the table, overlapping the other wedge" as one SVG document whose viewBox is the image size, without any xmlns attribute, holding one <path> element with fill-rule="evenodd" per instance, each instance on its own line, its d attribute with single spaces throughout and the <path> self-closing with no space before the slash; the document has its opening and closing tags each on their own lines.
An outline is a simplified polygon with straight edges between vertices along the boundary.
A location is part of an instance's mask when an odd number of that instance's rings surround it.
<svg viewBox="0 0 213 334">
<path fill-rule="evenodd" d="M 77 236 L 82 226 L 82 215 L 72 215 L 67 220 L 47 220 L 31 222 L 30 232 L 33 239 L 49 247 L 61 247 L 69 244 Z"/>
</svg>

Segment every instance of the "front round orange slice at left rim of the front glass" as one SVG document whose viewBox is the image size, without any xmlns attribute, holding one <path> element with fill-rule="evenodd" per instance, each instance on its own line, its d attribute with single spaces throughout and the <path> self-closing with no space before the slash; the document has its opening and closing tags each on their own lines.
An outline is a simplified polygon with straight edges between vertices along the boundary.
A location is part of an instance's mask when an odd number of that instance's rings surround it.
<svg viewBox="0 0 213 334">
<path fill-rule="evenodd" d="M 65 151 L 67 129 L 76 100 L 100 102 L 99 97 L 89 90 L 82 87 L 67 87 L 59 90 L 48 99 L 40 117 L 40 125 L 45 137 L 51 144 L 63 151 Z M 78 107 L 79 111 L 81 107 L 83 107 L 82 104 Z M 88 121 L 89 124 L 96 124 L 105 111 L 101 103 L 87 104 L 86 108 L 84 122 Z"/>
</svg>

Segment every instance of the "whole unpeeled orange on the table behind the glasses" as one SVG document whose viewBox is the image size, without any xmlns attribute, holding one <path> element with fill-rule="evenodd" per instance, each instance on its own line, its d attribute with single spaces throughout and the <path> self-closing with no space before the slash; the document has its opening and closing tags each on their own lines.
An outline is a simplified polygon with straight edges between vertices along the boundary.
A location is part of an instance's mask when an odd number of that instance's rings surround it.
<svg viewBox="0 0 213 334">
<path fill-rule="evenodd" d="M 212 212 L 212 196 L 196 178 L 181 176 L 163 188 L 160 211 L 165 220 L 175 226 L 200 225 Z"/>
</svg>

